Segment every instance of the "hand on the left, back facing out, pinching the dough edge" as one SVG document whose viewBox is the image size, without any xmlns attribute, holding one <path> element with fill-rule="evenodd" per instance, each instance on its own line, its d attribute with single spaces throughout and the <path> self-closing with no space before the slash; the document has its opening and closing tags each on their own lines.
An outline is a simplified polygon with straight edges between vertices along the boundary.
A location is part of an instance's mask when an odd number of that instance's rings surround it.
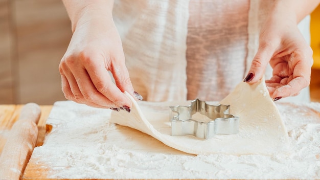
<svg viewBox="0 0 320 180">
<path fill-rule="evenodd" d="M 135 97 L 139 94 L 134 92 L 125 66 L 121 39 L 110 14 L 112 2 L 64 4 L 73 29 L 59 65 L 65 97 L 94 107 L 130 111 L 131 101 L 123 92 Z"/>
</svg>

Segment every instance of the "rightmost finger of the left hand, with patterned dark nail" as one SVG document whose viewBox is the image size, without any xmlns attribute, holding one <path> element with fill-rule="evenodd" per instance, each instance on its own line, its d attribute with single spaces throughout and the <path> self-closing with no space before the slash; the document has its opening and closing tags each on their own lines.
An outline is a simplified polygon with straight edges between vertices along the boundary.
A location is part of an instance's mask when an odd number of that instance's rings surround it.
<svg viewBox="0 0 320 180">
<path fill-rule="evenodd" d="M 123 56 L 120 56 L 118 58 L 124 59 Z M 136 100 L 139 100 L 139 101 L 143 100 L 143 97 L 138 92 L 135 92 L 133 89 L 129 72 L 125 65 L 125 61 L 124 60 L 116 61 L 112 63 L 111 66 L 112 66 L 111 73 L 120 91 L 128 92 Z"/>
</svg>

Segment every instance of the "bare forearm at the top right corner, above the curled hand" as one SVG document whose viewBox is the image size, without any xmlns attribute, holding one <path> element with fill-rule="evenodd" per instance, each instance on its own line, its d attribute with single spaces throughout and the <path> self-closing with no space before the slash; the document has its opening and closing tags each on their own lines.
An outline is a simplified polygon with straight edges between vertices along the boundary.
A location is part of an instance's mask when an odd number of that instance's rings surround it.
<svg viewBox="0 0 320 180">
<path fill-rule="evenodd" d="M 310 14 L 320 3 L 320 0 L 277 0 L 273 6 L 273 13 L 285 11 L 298 24 Z"/>
</svg>

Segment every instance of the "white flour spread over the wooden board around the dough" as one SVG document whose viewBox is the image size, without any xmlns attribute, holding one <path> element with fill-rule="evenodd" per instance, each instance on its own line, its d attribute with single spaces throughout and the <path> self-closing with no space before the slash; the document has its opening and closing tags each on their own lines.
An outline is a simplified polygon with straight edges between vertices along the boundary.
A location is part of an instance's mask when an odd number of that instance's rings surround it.
<svg viewBox="0 0 320 180">
<path fill-rule="evenodd" d="M 290 155 L 191 155 L 147 134 L 109 123 L 110 110 L 55 103 L 52 131 L 30 162 L 48 178 L 320 178 L 320 104 L 278 104 Z M 270 132 L 272 133 L 272 132 Z"/>
</svg>

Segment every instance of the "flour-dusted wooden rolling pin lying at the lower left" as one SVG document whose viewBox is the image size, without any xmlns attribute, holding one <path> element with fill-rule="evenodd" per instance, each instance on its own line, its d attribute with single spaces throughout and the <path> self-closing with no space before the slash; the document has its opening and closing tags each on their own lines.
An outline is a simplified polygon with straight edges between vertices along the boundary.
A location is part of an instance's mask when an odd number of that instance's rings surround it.
<svg viewBox="0 0 320 180">
<path fill-rule="evenodd" d="M 21 108 L 0 156 L 0 179 L 21 178 L 37 141 L 40 115 L 41 109 L 35 103 Z"/>
</svg>

